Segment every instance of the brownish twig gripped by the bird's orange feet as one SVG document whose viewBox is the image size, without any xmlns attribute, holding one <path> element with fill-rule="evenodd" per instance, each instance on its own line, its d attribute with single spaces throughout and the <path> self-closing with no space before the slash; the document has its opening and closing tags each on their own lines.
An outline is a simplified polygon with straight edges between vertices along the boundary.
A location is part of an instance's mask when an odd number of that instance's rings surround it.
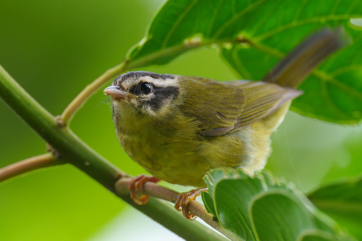
<svg viewBox="0 0 362 241">
<path fill-rule="evenodd" d="M 123 177 L 120 178 L 115 184 L 115 192 L 118 195 L 127 195 L 129 194 L 128 186 L 130 185 L 131 178 Z M 175 203 L 177 198 L 180 196 L 180 193 L 177 191 L 165 188 L 153 182 L 146 182 L 143 184 L 143 193 L 150 195 L 152 197 L 161 198 L 165 201 Z M 191 200 L 188 203 L 189 210 L 201 218 L 205 223 L 209 224 L 212 228 L 216 229 L 220 233 L 224 234 L 230 240 L 243 240 L 235 233 L 229 231 L 228 229 L 222 227 L 219 221 L 214 219 L 214 216 L 206 211 L 206 208 L 196 200 Z M 175 210 L 176 211 L 176 210 Z M 181 215 L 181 214 L 180 214 Z"/>
</svg>

